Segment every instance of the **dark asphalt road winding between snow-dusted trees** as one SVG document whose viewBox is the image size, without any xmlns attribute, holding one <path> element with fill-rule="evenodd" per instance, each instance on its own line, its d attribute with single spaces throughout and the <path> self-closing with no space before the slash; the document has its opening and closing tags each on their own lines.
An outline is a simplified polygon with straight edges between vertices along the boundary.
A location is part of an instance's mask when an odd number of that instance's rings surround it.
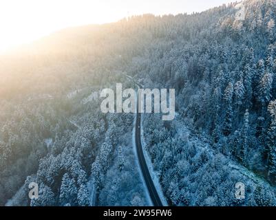
<svg viewBox="0 0 276 220">
<path fill-rule="evenodd" d="M 140 85 L 138 85 L 140 87 Z M 151 197 L 151 201 L 153 206 L 163 206 L 161 199 L 158 195 L 156 187 L 153 184 L 151 179 L 151 175 L 149 174 L 149 168 L 147 167 L 147 162 L 145 160 L 144 153 L 142 151 L 142 144 L 141 144 L 141 113 L 138 111 L 138 98 L 137 98 L 137 115 L 136 115 L 136 126 L 135 126 L 135 142 L 136 142 L 136 151 L 138 155 L 138 160 L 140 164 L 140 168 L 142 170 L 142 175 L 145 179 L 145 183 L 147 185 L 147 189 L 149 192 L 149 196 Z"/>
</svg>

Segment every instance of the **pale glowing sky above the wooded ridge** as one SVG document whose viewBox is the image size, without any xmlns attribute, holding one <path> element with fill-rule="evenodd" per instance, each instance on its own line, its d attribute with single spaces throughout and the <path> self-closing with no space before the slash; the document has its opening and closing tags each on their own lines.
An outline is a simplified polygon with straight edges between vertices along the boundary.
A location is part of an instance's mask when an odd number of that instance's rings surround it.
<svg viewBox="0 0 276 220">
<path fill-rule="evenodd" d="M 63 28 L 151 13 L 202 12 L 235 0 L 0 0 L 0 52 Z"/>
</svg>

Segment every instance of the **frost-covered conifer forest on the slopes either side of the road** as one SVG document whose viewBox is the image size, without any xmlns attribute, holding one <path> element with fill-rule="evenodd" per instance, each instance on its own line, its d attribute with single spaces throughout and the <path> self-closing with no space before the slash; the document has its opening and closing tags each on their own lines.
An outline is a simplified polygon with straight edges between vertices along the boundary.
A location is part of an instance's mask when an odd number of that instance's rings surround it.
<svg viewBox="0 0 276 220">
<path fill-rule="evenodd" d="M 1 56 L 0 205 L 147 205 L 133 114 L 100 111 L 127 74 L 176 89 L 176 118 L 145 114 L 145 148 L 175 206 L 275 206 L 276 2 L 63 30 Z M 28 199 L 36 181 L 39 199 Z M 246 199 L 235 199 L 235 184 Z M 25 193 L 25 194 L 24 194 Z M 15 201 L 14 201 L 15 200 Z"/>
</svg>

